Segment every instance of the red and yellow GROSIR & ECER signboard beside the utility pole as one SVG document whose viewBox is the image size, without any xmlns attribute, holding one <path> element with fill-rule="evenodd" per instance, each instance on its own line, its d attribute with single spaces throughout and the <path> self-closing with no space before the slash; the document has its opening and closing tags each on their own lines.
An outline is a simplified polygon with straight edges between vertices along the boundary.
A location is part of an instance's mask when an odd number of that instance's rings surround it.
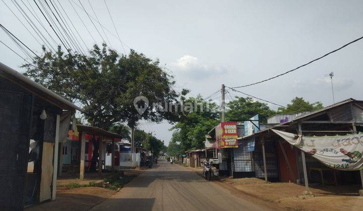
<svg viewBox="0 0 363 211">
<path fill-rule="evenodd" d="M 215 148 L 237 148 L 237 123 L 223 122 L 216 126 L 216 142 Z"/>
</svg>

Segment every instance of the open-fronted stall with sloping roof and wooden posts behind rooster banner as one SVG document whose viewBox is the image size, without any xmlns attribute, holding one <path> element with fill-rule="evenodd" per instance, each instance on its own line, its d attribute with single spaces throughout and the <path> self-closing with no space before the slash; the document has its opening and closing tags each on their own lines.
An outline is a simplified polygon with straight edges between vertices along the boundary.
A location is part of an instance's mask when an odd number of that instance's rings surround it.
<svg viewBox="0 0 363 211">
<path fill-rule="evenodd" d="M 276 122 L 271 122 L 271 124 L 273 123 Z M 343 171 L 337 168 L 330 168 L 312 156 L 315 152 L 306 153 L 301 151 L 276 134 L 272 129 L 296 134 L 296 136 L 317 138 L 344 137 L 347 134 L 358 134 L 363 132 L 362 100 L 348 98 L 323 109 L 294 116 L 287 122 L 274 126 L 270 125 L 267 129 L 253 135 L 239 138 L 239 143 L 247 143 L 251 139 L 255 140 L 257 147 L 253 154 L 259 146 L 265 148 L 266 165 L 262 165 L 263 171 L 261 176 L 265 177 L 266 172 L 268 180 L 275 180 L 274 177 L 277 175 L 277 181 L 302 182 L 307 185 L 307 189 L 309 182 L 332 183 L 335 185 L 362 183 L 363 170 L 359 172 L 359 170 Z M 350 144 L 351 142 L 348 141 L 346 144 L 341 144 L 341 146 L 337 143 L 337 146 L 339 145 L 339 148 L 344 148 Z M 339 149 L 336 151 L 337 154 L 341 153 Z M 253 159 L 253 162 L 256 162 L 256 160 Z M 266 171 L 264 166 L 266 166 Z M 255 177 L 258 177 L 256 168 L 252 170 L 255 171 Z"/>
</svg>

